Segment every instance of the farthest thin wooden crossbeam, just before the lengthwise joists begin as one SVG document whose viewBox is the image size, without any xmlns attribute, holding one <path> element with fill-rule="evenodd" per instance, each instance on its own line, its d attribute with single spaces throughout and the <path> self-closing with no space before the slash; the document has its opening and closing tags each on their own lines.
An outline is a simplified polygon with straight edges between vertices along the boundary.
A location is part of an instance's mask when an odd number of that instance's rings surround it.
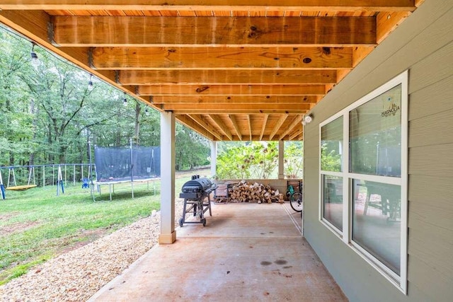
<svg viewBox="0 0 453 302">
<path fill-rule="evenodd" d="M 192 104 L 161 104 L 161 110 L 165 111 L 187 111 L 194 112 L 200 111 L 205 112 L 205 114 L 213 114 L 212 112 L 222 111 L 222 114 L 228 112 L 266 112 L 266 111 L 277 111 L 277 112 L 305 112 L 310 110 L 311 107 L 309 104 L 230 104 L 230 103 L 217 103 L 217 104 L 198 104 L 193 106 Z"/>
</svg>

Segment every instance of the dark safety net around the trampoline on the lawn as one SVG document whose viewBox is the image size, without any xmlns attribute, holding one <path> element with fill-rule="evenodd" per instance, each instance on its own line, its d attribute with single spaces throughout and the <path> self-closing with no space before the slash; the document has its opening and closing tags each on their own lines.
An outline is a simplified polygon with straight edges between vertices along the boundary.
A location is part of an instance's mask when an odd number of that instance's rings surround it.
<svg viewBox="0 0 453 302">
<path fill-rule="evenodd" d="M 96 181 L 116 182 L 159 178 L 160 147 L 94 148 Z"/>
</svg>

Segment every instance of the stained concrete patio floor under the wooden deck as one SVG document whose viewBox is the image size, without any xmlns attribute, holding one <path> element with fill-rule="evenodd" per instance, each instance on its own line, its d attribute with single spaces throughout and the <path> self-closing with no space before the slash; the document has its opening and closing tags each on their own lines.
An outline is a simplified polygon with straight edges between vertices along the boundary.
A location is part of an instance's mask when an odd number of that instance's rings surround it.
<svg viewBox="0 0 453 302">
<path fill-rule="evenodd" d="M 208 213 L 206 213 L 208 214 Z M 289 204 L 212 204 L 89 301 L 347 301 Z"/>
</svg>

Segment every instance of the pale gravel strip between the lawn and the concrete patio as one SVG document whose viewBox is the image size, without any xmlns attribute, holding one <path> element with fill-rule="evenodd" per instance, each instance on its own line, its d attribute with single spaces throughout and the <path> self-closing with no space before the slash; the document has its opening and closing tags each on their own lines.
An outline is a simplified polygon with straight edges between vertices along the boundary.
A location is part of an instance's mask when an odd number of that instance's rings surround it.
<svg viewBox="0 0 453 302">
<path fill-rule="evenodd" d="M 178 225 L 183 212 L 181 200 L 176 201 L 175 212 Z M 0 301 L 86 301 L 157 243 L 160 221 L 160 212 L 154 212 L 38 265 L 0 286 Z"/>
</svg>

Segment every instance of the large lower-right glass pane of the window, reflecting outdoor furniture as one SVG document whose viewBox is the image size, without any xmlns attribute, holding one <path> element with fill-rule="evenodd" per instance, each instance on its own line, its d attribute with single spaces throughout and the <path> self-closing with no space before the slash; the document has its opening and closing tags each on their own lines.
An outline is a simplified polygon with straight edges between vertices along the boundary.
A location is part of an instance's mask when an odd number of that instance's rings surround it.
<svg viewBox="0 0 453 302">
<path fill-rule="evenodd" d="M 352 240 L 400 274 L 401 187 L 353 180 Z"/>
</svg>

